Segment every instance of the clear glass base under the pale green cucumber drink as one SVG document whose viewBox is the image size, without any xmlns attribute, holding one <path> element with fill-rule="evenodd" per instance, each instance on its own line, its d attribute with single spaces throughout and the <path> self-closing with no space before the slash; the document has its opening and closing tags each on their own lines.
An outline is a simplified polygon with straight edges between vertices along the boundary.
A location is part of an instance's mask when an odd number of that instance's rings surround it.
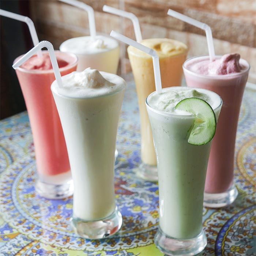
<svg viewBox="0 0 256 256">
<path fill-rule="evenodd" d="M 166 255 L 192 256 L 202 252 L 207 245 L 207 237 L 202 230 L 201 233 L 190 239 L 177 239 L 167 236 L 159 228 L 154 238 L 157 248 Z"/>
</svg>

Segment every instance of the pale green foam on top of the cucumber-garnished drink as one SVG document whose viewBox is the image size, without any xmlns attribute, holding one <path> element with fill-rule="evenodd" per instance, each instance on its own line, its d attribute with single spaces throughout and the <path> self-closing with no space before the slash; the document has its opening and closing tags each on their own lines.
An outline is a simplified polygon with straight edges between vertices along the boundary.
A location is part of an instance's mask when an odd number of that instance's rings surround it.
<svg viewBox="0 0 256 256">
<path fill-rule="evenodd" d="M 161 94 L 157 94 L 156 92 L 150 94 L 147 98 L 147 103 L 151 108 L 158 111 L 178 115 L 189 115 L 191 113 L 187 111 L 175 109 L 177 103 L 187 98 L 203 99 L 212 109 L 217 108 L 221 104 L 221 99 L 218 94 L 209 90 L 193 87 L 164 88 Z"/>
</svg>

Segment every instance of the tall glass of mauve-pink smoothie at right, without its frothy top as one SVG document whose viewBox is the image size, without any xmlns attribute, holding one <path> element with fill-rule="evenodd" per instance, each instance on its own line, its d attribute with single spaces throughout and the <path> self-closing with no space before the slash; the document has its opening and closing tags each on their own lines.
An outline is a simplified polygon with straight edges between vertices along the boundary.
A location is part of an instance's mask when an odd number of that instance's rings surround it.
<svg viewBox="0 0 256 256">
<path fill-rule="evenodd" d="M 219 58 L 221 56 L 217 56 Z M 208 59 L 208 56 L 188 59 L 183 70 L 187 86 L 214 91 L 223 100 L 212 141 L 204 191 L 204 206 L 215 208 L 231 204 L 238 194 L 234 185 L 234 152 L 240 106 L 250 65 L 240 59 L 240 64 L 245 67 L 241 72 L 216 76 L 196 74 L 187 68 L 193 62 Z"/>
</svg>

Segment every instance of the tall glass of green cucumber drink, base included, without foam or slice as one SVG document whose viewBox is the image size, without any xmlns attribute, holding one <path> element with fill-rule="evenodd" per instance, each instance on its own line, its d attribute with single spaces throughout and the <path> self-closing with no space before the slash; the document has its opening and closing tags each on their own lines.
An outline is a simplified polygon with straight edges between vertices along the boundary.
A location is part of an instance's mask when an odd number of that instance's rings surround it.
<svg viewBox="0 0 256 256">
<path fill-rule="evenodd" d="M 163 89 L 163 93 L 176 88 Z M 215 95 L 208 90 L 194 89 Z M 155 244 L 167 255 L 195 255 L 207 244 L 202 215 L 211 142 L 201 146 L 189 144 L 187 133 L 195 117 L 155 110 L 148 103 L 154 94 L 147 97 L 146 106 L 158 167 L 159 228 Z M 217 99 L 214 112 L 218 119 L 222 101 L 218 95 Z"/>
</svg>

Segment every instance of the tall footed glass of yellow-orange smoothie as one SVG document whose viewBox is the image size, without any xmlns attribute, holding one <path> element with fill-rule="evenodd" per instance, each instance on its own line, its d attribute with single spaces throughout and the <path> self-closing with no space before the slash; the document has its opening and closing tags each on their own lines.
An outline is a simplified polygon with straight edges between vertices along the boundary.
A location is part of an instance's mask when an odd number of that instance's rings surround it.
<svg viewBox="0 0 256 256">
<path fill-rule="evenodd" d="M 144 39 L 141 44 L 154 49 L 159 56 L 162 87 L 180 86 L 182 64 L 186 60 L 188 48 L 182 42 L 167 38 Z M 145 180 L 157 181 L 157 159 L 153 136 L 145 106 L 146 97 L 155 91 L 152 57 L 133 46 L 129 46 L 128 56 L 135 80 L 140 112 L 141 159 L 138 175 Z"/>
</svg>

